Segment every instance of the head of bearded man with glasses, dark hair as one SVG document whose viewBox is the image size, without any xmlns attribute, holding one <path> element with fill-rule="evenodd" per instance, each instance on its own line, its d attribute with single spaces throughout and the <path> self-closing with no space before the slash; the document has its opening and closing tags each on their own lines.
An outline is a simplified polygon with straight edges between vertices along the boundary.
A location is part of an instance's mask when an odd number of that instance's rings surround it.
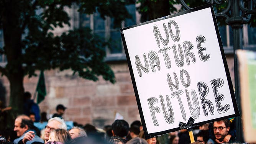
<svg viewBox="0 0 256 144">
<path fill-rule="evenodd" d="M 219 141 L 223 141 L 224 137 L 228 134 L 229 129 L 230 121 L 228 119 L 215 121 L 213 123 L 213 133 L 215 135 L 215 138 Z"/>
</svg>

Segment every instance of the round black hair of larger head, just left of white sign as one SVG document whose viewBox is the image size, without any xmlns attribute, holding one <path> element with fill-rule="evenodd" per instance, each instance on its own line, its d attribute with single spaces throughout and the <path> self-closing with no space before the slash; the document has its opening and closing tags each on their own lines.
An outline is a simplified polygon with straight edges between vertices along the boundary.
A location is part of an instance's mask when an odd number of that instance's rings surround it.
<svg viewBox="0 0 256 144">
<path fill-rule="evenodd" d="M 111 126 L 116 136 L 125 137 L 129 133 L 129 124 L 123 119 L 117 119 Z"/>
</svg>

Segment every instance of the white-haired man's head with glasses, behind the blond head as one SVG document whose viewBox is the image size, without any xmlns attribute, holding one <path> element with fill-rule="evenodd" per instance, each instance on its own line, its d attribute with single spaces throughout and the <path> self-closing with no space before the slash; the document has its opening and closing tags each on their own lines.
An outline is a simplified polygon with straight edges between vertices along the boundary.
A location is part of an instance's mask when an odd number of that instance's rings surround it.
<svg viewBox="0 0 256 144">
<path fill-rule="evenodd" d="M 48 139 L 49 139 L 49 133 L 51 131 L 53 131 L 54 129 L 65 129 L 65 130 L 67 130 L 67 125 L 64 122 L 64 120 L 61 119 L 61 118 L 54 117 L 54 118 L 49 119 L 48 123 L 47 123 L 47 125 L 45 126 L 45 129 L 44 129 L 44 139 L 46 141 L 48 141 Z"/>
</svg>

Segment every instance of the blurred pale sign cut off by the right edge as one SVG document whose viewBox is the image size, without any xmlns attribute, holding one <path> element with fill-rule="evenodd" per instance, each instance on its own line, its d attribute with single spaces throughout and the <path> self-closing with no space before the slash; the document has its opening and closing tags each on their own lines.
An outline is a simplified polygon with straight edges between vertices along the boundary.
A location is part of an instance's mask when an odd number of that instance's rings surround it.
<svg viewBox="0 0 256 144">
<path fill-rule="evenodd" d="M 236 50 L 239 61 L 240 96 L 245 141 L 256 142 L 256 52 Z"/>
</svg>

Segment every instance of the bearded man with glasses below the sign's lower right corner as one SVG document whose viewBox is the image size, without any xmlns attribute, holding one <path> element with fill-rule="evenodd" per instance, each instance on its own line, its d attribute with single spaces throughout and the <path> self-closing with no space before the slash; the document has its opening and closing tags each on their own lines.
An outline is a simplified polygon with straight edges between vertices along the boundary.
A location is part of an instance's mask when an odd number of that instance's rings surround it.
<svg viewBox="0 0 256 144">
<path fill-rule="evenodd" d="M 230 134 L 228 134 L 228 131 L 230 131 L 230 121 L 228 119 L 215 121 L 213 123 L 215 142 L 217 144 L 222 144 L 224 142 L 234 142 L 235 137 L 232 137 Z"/>
</svg>

